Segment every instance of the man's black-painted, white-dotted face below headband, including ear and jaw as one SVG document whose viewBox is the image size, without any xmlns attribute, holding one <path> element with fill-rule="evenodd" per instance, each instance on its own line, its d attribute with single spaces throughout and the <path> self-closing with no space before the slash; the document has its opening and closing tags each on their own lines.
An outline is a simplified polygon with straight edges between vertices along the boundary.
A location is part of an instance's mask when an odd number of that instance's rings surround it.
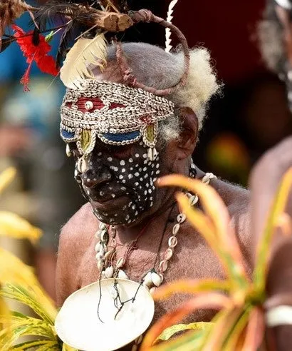
<svg viewBox="0 0 292 351">
<path fill-rule="evenodd" d="M 174 203 L 174 189 L 157 188 L 154 183 L 159 176 L 182 170 L 185 175 L 189 173 L 190 159 L 187 158 L 197 141 L 197 117 L 189 108 L 181 108 L 180 114 L 184 121 L 180 141 L 171 141 L 167 149 L 158 147 L 156 161 L 147 161 L 147 146 L 139 142 L 128 146 L 96 142 L 80 178 L 83 193 L 103 223 L 126 227 L 132 226 L 132 222 L 135 226 L 143 225 L 146 218 L 162 213 Z M 80 153 L 75 143 L 71 143 L 71 150 L 78 162 Z"/>
</svg>

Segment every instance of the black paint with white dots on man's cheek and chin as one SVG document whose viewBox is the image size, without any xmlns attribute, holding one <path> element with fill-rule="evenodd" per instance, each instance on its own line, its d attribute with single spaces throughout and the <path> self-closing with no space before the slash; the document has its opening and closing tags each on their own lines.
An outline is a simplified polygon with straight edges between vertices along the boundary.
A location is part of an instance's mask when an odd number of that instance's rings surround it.
<svg viewBox="0 0 292 351">
<path fill-rule="evenodd" d="M 100 175 L 95 179 L 108 177 L 108 180 L 98 190 L 98 198 L 100 198 L 100 203 L 105 203 L 105 208 L 103 210 L 100 209 L 100 206 L 94 208 L 94 200 L 90 200 L 95 215 L 103 223 L 117 225 L 135 223 L 143 212 L 150 210 L 154 203 L 152 195 L 155 194 L 155 187 L 153 183 L 154 179 L 157 178 L 156 172 L 159 171 L 160 164 L 157 162 L 157 158 L 155 161 L 148 160 L 147 146 L 144 144 L 141 146 L 143 147 L 140 147 L 140 151 L 137 147 L 137 152 L 129 158 L 124 156 L 123 159 L 119 159 L 104 152 L 96 162 L 93 161 L 93 169 L 97 165 L 104 165 L 99 166 Z M 102 161 L 103 163 L 101 163 Z M 108 167 L 110 171 L 108 175 L 103 171 L 104 167 Z M 96 188 L 98 187 L 99 185 L 96 185 Z M 87 188 L 85 189 L 87 190 Z M 90 188 L 88 195 L 91 191 Z M 98 199 L 95 201 L 99 202 Z M 106 207 L 107 203 L 109 203 L 108 207 Z M 115 203 L 119 203 L 120 207 L 115 207 Z"/>
</svg>

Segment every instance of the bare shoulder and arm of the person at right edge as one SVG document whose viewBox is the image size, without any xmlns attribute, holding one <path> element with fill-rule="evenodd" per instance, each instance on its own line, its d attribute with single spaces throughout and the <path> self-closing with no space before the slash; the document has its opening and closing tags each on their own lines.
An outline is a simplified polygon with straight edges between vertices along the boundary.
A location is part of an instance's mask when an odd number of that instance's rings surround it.
<svg viewBox="0 0 292 351">
<path fill-rule="evenodd" d="M 256 248 L 264 224 L 276 195 L 278 185 L 284 173 L 292 166 L 292 137 L 286 138 L 268 151 L 256 164 L 251 173 L 251 204 L 253 246 Z M 292 193 L 288 196 L 286 213 L 292 218 Z M 292 240 L 291 236 L 276 233 L 271 252 L 271 268 L 268 273 L 266 307 L 291 305 L 292 291 Z M 290 302 L 283 302 L 283 296 L 289 296 Z M 282 301 L 282 302 L 281 302 Z M 276 350 L 288 351 L 292 347 L 291 325 L 279 326 L 269 330 L 272 345 Z"/>
</svg>

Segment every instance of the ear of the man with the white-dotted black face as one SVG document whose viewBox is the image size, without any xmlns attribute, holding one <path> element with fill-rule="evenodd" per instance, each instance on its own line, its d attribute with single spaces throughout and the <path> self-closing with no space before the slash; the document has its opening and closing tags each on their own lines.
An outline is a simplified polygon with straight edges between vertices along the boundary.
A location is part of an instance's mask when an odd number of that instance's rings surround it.
<svg viewBox="0 0 292 351">
<path fill-rule="evenodd" d="M 179 118 L 182 121 L 182 131 L 177 141 L 179 159 L 187 158 L 194 152 L 197 144 L 199 122 L 192 108 L 179 108 Z"/>
</svg>

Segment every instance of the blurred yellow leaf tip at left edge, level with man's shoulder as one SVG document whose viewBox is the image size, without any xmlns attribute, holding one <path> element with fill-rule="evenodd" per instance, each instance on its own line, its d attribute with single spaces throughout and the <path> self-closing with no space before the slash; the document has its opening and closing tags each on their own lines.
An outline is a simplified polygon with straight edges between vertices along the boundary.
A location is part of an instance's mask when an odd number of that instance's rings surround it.
<svg viewBox="0 0 292 351">
<path fill-rule="evenodd" d="M 41 230 L 34 227 L 27 220 L 14 213 L 0 211 L 0 236 L 16 239 L 28 239 L 36 243 L 41 237 Z"/>
</svg>

